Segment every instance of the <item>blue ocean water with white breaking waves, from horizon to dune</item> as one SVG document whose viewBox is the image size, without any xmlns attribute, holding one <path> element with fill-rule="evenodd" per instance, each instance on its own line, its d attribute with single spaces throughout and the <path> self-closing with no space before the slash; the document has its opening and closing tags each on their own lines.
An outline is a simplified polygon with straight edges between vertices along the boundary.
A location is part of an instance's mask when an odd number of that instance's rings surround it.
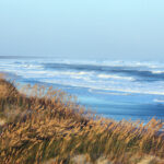
<svg viewBox="0 0 164 164">
<path fill-rule="evenodd" d="M 117 120 L 164 120 L 164 63 L 154 61 L 0 58 L 0 71 L 21 83 L 43 83 L 78 96 Z"/>
</svg>

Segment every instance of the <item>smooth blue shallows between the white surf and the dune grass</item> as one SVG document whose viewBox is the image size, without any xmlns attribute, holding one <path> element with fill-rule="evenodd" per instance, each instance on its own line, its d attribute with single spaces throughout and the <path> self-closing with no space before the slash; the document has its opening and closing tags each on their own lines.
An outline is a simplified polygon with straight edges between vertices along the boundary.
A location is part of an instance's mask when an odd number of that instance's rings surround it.
<svg viewBox="0 0 164 164">
<path fill-rule="evenodd" d="M 120 121 L 121 119 L 132 119 L 133 121 L 137 121 L 140 119 L 144 124 L 148 124 L 153 117 L 155 117 L 155 119 L 164 120 L 164 116 L 161 113 L 164 104 L 152 102 L 156 97 L 154 95 L 106 94 L 96 90 L 91 92 L 90 87 L 75 87 L 56 83 L 38 82 L 31 79 L 23 79 L 19 75 L 16 77 L 10 72 L 8 73 L 11 81 L 12 79 L 16 79 L 16 82 L 20 84 L 22 83 L 23 85 L 34 85 L 38 83 L 39 85 L 46 85 L 47 87 L 52 86 L 55 90 L 61 89 L 70 95 L 75 95 L 81 105 L 84 105 L 86 108 L 92 108 L 99 116 L 102 115 L 106 118 L 114 118 L 117 121 Z M 149 101 L 142 102 L 142 99 L 145 98 Z M 131 101 L 129 102 L 129 99 Z"/>
</svg>

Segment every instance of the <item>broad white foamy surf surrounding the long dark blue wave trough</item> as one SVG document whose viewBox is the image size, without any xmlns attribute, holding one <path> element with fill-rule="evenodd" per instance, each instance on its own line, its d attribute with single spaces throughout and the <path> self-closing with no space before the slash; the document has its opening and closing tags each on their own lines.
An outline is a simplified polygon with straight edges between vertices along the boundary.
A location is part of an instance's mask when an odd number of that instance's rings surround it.
<svg viewBox="0 0 164 164">
<path fill-rule="evenodd" d="M 117 74 L 108 74 L 99 71 L 78 71 L 69 69 L 58 70 L 58 69 L 48 69 L 45 68 L 43 63 L 48 62 L 63 62 L 63 63 L 81 63 L 81 65 L 97 65 L 97 66 L 121 66 L 121 67 L 142 67 L 148 66 L 154 68 L 154 66 L 159 67 L 160 69 L 149 69 L 153 73 L 162 73 L 164 69 L 161 69 L 163 65 L 161 63 L 149 63 L 149 62 L 124 62 L 124 61 L 71 61 L 71 60 L 39 60 L 39 61 L 0 61 L 0 70 L 9 71 L 16 73 L 17 75 L 22 75 L 25 79 L 35 79 L 40 82 L 50 82 L 50 83 L 58 83 L 63 85 L 71 85 L 71 86 L 80 86 L 80 87 L 90 87 L 95 90 L 102 91 L 112 91 L 112 93 L 122 92 L 124 94 L 130 93 L 138 93 L 138 94 L 156 94 L 156 95 L 164 95 L 164 82 L 156 81 L 156 82 L 147 82 L 144 81 L 137 81 L 136 78 L 121 73 Z M 137 69 L 137 68 L 136 68 Z M 139 68 L 142 70 L 144 68 Z M 138 70 L 138 69 L 137 69 Z M 117 94 L 117 93 L 116 93 Z"/>
</svg>

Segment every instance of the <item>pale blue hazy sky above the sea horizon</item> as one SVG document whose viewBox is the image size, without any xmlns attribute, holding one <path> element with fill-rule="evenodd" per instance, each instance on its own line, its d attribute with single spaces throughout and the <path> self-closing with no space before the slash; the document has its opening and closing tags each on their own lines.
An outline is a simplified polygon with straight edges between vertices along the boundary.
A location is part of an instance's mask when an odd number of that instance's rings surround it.
<svg viewBox="0 0 164 164">
<path fill-rule="evenodd" d="M 0 0 L 0 55 L 164 60 L 164 0 Z"/>
</svg>

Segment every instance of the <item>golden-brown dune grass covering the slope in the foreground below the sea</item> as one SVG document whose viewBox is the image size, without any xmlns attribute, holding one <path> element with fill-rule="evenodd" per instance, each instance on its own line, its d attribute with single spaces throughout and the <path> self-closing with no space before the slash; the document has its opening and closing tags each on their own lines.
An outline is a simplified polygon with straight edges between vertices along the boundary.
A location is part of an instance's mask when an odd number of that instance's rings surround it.
<svg viewBox="0 0 164 164">
<path fill-rule="evenodd" d="M 25 94 L 26 93 L 26 94 Z M 0 163 L 164 164 L 163 122 L 98 118 L 74 97 L 52 87 L 27 85 L 19 92 L 0 79 Z"/>
</svg>

